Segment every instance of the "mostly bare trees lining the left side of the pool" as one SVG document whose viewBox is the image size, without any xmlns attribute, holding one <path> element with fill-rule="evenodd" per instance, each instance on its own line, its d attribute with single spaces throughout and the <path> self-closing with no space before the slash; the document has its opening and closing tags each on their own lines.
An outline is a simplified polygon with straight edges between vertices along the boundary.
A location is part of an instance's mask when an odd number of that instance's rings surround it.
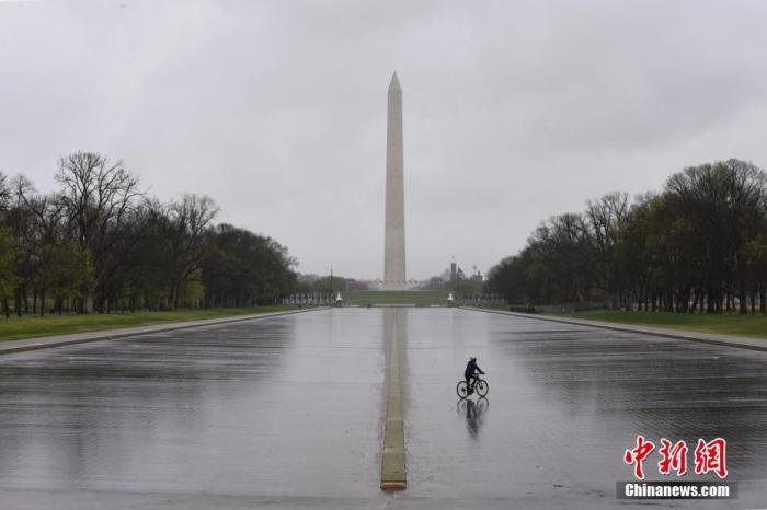
<svg viewBox="0 0 767 510">
<path fill-rule="evenodd" d="M 0 301 L 12 313 L 108 313 L 274 303 L 296 260 L 273 239 L 215 224 L 218 207 L 162 202 L 121 161 L 75 152 L 58 189 L 0 173 Z"/>
</svg>

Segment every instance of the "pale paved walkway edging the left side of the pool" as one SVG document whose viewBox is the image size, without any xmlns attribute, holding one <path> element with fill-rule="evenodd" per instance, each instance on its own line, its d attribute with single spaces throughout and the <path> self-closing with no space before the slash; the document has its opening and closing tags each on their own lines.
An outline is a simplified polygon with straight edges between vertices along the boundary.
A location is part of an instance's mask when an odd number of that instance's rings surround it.
<svg viewBox="0 0 767 510">
<path fill-rule="evenodd" d="M 328 306 L 318 306 L 313 309 L 289 310 L 286 312 L 268 312 L 253 313 L 249 315 L 230 315 L 219 318 L 202 318 L 184 322 L 174 322 L 167 324 L 152 324 L 150 326 L 135 326 L 117 329 L 107 329 L 100 332 L 72 333 L 70 335 L 57 336 L 41 336 L 36 338 L 25 338 L 21 340 L 8 340 L 0 343 L 0 356 L 10 355 L 13 352 L 23 352 L 27 350 L 48 349 L 53 347 L 64 347 L 75 344 L 84 344 L 87 341 L 113 340 L 116 338 L 125 338 L 129 336 L 145 335 L 150 333 L 173 332 L 176 329 L 188 329 L 192 327 L 214 326 L 218 324 L 230 324 L 242 321 L 253 321 L 257 318 L 277 317 L 281 315 L 291 315 L 294 313 L 313 312 L 318 310 L 327 310 Z"/>
</svg>

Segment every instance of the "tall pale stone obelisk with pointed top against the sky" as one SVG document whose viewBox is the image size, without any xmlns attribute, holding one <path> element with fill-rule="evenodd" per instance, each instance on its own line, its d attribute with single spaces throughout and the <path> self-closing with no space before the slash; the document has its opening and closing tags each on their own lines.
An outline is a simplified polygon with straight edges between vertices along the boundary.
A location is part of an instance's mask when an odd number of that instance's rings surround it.
<svg viewBox="0 0 767 510">
<path fill-rule="evenodd" d="M 402 175 L 402 89 L 397 72 L 389 83 L 386 129 L 386 240 L 384 288 L 404 290 L 404 179 Z"/>
</svg>

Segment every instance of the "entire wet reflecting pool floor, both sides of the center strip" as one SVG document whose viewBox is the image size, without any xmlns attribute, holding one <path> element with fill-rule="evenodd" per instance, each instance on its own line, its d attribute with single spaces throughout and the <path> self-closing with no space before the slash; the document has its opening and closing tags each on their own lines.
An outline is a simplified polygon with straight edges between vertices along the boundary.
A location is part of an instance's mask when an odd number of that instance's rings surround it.
<svg viewBox="0 0 767 510">
<path fill-rule="evenodd" d="M 390 496 L 378 485 L 394 322 L 408 490 Z M 459 402 L 472 353 L 490 393 Z M 764 508 L 766 362 L 456 309 L 327 310 L 8 355 L 0 508 Z M 725 438 L 739 499 L 617 500 L 638 433 L 690 450 Z"/>
</svg>

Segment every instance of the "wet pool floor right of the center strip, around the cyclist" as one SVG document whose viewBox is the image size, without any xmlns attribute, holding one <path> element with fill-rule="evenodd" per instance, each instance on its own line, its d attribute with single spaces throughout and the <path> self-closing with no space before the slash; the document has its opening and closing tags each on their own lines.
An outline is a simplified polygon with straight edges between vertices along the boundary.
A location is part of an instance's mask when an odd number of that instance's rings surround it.
<svg viewBox="0 0 767 510">
<path fill-rule="evenodd" d="M 470 311 L 408 312 L 408 497 L 423 508 L 765 508 L 767 352 Z M 461 404 L 468 357 L 486 402 Z M 728 440 L 737 500 L 617 500 L 638 433 Z M 657 451 L 646 479 L 663 479 Z M 690 474 L 691 473 L 691 474 Z M 673 476 L 676 478 L 676 476 Z"/>
</svg>

